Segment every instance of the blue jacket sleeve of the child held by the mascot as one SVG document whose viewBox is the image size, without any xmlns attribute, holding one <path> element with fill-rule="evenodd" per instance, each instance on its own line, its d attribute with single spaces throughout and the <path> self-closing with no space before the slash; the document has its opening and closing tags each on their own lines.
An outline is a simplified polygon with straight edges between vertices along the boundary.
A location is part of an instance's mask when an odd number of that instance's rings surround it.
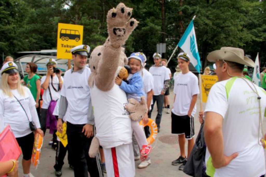
<svg viewBox="0 0 266 177">
<path fill-rule="evenodd" d="M 140 76 L 132 78 L 129 84 L 127 84 L 125 81 L 122 81 L 120 85 L 120 89 L 124 90 L 128 94 L 137 93 L 138 91 L 142 89 L 142 87 L 143 87 L 143 82 Z"/>
</svg>

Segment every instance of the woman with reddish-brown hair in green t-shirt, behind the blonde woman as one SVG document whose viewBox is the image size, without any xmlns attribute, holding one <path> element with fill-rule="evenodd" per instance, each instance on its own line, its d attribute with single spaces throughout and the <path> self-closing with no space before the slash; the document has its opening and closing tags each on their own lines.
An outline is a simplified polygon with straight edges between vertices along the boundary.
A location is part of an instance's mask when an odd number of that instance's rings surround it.
<svg viewBox="0 0 266 177">
<path fill-rule="evenodd" d="M 38 66 L 35 63 L 27 63 L 25 68 L 26 75 L 24 77 L 25 86 L 28 87 L 36 102 L 36 109 L 39 115 L 39 98 L 41 93 L 41 79 L 36 74 Z"/>
</svg>

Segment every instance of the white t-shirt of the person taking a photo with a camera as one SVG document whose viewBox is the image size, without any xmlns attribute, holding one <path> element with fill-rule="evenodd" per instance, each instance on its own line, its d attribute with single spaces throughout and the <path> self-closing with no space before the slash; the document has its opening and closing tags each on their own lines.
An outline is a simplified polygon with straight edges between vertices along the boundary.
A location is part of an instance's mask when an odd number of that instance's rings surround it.
<svg viewBox="0 0 266 177">
<path fill-rule="evenodd" d="M 41 85 L 44 83 L 46 79 L 46 76 L 43 76 L 41 78 Z M 61 79 L 63 81 L 63 77 L 61 76 Z M 55 87 L 56 90 L 58 90 L 58 85 L 59 85 L 59 79 L 58 77 L 55 75 L 53 77 L 53 86 Z M 52 95 L 52 99 L 53 100 L 58 100 L 60 98 L 60 90 L 58 92 L 56 92 L 53 87 L 52 87 L 52 83 L 51 83 L 51 78 L 49 79 L 49 87 L 51 90 L 51 95 Z M 49 89 L 47 88 L 46 90 L 43 91 L 43 104 L 41 106 L 41 108 L 43 109 L 48 109 L 50 101 L 51 101 L 51 96 L 50 96 L 50 92 Z"/>
</svg>

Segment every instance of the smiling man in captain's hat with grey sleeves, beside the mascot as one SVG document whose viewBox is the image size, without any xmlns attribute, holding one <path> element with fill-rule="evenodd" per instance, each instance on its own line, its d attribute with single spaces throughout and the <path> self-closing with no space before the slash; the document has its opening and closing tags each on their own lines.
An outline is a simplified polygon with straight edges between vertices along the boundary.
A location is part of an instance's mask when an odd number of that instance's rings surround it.
<svg viewBox="0 0 266 177">
<path fill-rule="evenodd" d="M 99 176 L 96 158 L 89 157 L 93 138 L 94 116 L 88 78 L 91 73 L 87 62 L 90 47 L 78 45 L 70 49 L 74 66 L 65 72 L 61 90 L 57 131 L 62 132 L 62 119 L 66 119 L 69 153 L 73 157 L 74 176 Z"/>
</svg>

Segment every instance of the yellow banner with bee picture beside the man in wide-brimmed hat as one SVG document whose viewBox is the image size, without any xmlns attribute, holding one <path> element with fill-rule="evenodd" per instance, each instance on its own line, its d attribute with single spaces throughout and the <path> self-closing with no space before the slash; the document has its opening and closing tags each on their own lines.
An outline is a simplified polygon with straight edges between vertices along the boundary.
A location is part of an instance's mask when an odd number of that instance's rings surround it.
<svg viewBox="0 0 266 177">
<path fill-rule="evenodd" d="M 200 90 L 201 90 L 201 101 L 206 103 L 208 99 L 211 87 L 218 82 L 217 75 L 202 75 L 200 74 Z"/>
</svg>

